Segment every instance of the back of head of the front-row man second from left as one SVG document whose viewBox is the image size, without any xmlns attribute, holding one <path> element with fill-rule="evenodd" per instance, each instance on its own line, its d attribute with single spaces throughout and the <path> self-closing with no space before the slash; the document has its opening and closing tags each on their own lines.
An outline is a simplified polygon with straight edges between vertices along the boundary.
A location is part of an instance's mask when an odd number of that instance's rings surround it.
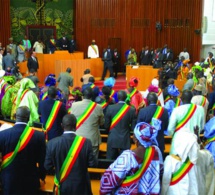
<svg viewBox="0 0 215 195">
<path fill-rule="evenodd" d="M 63 117 L 62 126 L 64 131 L 75 131 L 77 119 L 74 114 L 67 114 Z"/>
</svg>

